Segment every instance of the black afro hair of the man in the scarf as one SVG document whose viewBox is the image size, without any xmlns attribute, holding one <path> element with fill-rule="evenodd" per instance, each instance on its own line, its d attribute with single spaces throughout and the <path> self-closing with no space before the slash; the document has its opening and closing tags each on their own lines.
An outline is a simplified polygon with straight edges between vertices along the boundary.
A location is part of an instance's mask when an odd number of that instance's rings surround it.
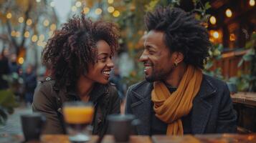
<svg viewBox="0 0 256 143">
<path fill-rule="evenodd" d="M 145 23 L 148 31 L 163 32 L 166 46 L 171 52 L 184 54 L 185 64 L 204 69 L 211 43 L 207 29 L 193 14 L 179 8 L 158 6 L 146 14 Z"/>
</svg>

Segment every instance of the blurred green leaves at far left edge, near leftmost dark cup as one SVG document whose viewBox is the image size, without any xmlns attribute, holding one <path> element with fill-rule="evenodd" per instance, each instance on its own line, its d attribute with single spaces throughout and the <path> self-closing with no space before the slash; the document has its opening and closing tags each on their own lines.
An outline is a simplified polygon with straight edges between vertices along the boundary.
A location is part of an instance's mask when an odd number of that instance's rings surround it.
<svg viewBox="0 0 256 143">
<path fill-rule="evenodd" d="M 8 114 L 12 114 L 14 107 L 17 106 L 18 103 L 11 90 L 0 90 L 0 124 L 6 122 Z"/>
</svg>

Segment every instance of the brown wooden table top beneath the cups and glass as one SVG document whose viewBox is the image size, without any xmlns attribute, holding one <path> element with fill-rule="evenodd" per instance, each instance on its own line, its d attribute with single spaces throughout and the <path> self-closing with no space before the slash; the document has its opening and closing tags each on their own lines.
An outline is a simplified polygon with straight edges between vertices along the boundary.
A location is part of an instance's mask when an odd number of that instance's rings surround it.
<svg viewBox="0 0 256 143">
<path fill-rule="evenodd" d="M 90 142 L 96 143 L 98 136 L 93 136 Z M 16 143 L 22 142 L 22 135 L 0 134 L 0 142 Z M 41 141 L 29 143 L 69 143 L 68 137 L 65 134 L 48 134 L 42 135 Z M 113 137 L 106 135 L 101 143 L 113 143 Z M 149 136 L 131 136 L 131 143 L 255 143 L 256 134 L 196 134 L 184 136 L 165 136 L 154 135 Z"/>
</svg>

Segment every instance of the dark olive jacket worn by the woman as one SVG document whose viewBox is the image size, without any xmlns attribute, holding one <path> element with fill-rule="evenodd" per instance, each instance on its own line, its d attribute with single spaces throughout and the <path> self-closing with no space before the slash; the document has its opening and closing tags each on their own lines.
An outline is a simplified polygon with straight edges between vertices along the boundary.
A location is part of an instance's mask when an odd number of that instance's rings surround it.
<svg viewBox="0 0 256 143">
<path fill-rule="evenodd" d="M 32 109 L 33 112 L 42 112 L 47 118 L 44 134 L 65 134 L 62 104 L 80 100 L 80 97 L 72 90 L 54 87 L 54 82 L 47 77 L 39 83 L 34 91 Z M 93 134 L 103 135 L 108 130 L 108 114 L 120 113 L 118 92 L 110 84 L 95 84 L 90 96 L 89 101 L 93 102 L 95 107 Z"/>
</svg>

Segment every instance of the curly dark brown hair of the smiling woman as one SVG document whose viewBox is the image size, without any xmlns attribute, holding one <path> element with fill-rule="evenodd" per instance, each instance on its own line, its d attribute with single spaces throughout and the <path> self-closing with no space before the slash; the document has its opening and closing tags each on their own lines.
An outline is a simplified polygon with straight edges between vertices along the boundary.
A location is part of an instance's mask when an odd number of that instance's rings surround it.
<svg viewBox="0 0 256 143">
<path fill-rule="evenodd" d="M 118 27 L 110 22 L 91 21 L 85 15 L 72 16 L 62 29 L 54 31 L 42 51 L 42 63 L 48 65 L 54 86 L 77 86 L 81 74 L 86 74 L 88 64 L 95 64 L 97 41 L 106 41 L 114 54 L 118 49 Z"/>
</svg>

